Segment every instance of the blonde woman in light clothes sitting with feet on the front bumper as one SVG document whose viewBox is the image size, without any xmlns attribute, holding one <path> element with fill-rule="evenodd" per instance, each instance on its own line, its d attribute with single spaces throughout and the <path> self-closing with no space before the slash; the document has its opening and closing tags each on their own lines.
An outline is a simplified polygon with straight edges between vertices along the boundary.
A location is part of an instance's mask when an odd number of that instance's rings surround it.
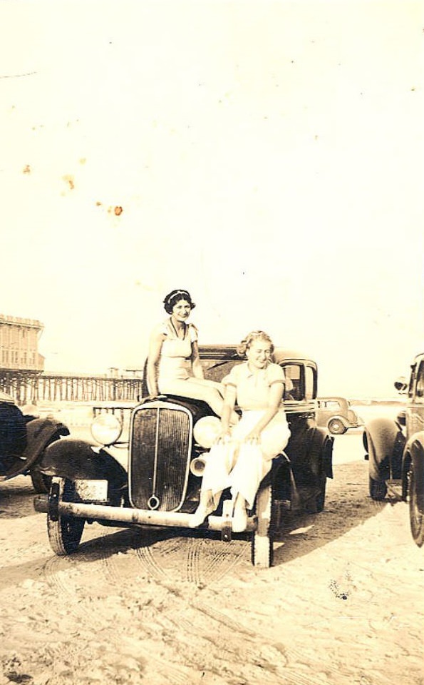
<svg viewBox="0 0 424 685">
<path fill-rule="evenodd" d="M 232 529 L 247 525 L 259 483 L 271 470 L 290 437 L 282 405 L 285 377 L 272 362 L 274 345 L 267 333 L 254 330 L 239 347 L 247 361 L 234 366 L 222 380 L 225 387 L 221 433 L 210 450 L 202 478 L 200 504 L 192 519 L 197 527 L 218 506 L 222 491 L 230 487 L 234 513 Z M 230 417 L 237 404 L 242 419 L 231 427 Z"/>
</svg>

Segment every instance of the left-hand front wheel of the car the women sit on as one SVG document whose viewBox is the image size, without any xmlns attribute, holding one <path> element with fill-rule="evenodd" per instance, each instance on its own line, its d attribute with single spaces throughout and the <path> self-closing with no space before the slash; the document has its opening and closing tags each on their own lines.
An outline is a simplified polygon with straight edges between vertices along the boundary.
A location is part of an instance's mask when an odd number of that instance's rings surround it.
<svg viewBox="0 0 424 685">
<path fill-rule="evenodd" d="M 57 493 L 57 500 L 59 502 L 73 502 L 75 498 L 75 489 L 73 482 L 67 478 L 53 478 L 51 483 L 51 497 L 52 494 Z M 50 542 L 51 549 L 59 557 L 65 557 L 67 554 L 72 554 L 78 549 L 83 534 L 85 519 L 73 516 L 62 516 L 58 514 L 52 516 L 47 514 L 47 532 L 48 542 Z"/>
</svg>

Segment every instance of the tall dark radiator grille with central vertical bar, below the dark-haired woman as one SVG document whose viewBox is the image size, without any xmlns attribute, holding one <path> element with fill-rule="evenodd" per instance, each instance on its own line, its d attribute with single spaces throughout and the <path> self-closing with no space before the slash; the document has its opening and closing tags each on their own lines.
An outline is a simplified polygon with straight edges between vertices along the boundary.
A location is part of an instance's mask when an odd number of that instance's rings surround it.
<svg viewBox="0 0 424 685">
<path fill-rule="evenodd" d="M 130 425 L 130 501 L 138 509 L 175 511 L 185 498 L 192 415 L 169 402 L 142 405 Z"/>
</svg>

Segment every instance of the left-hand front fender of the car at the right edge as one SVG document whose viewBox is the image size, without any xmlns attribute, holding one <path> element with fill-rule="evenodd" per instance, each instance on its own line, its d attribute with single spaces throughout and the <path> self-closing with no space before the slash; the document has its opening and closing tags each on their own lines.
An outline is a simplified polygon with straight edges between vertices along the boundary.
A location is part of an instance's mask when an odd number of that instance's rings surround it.
<svg viewBox="0 0 424 685">
<path fill-rule="evenodd" d="M 372 419 L 365 425 L 362 440 L 368 455 L 370 477 L 380 482 L 386 480 L 395 448 L 405 442 L 400 425 L 386 417 Z"/>
</svg>

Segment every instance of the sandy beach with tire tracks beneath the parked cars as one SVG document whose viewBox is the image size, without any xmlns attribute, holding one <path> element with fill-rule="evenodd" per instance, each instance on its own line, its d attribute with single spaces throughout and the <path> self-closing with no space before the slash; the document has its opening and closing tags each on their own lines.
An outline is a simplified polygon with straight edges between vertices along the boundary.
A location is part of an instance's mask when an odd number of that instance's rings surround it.
<svg viewBox="0 0 424 685">
<path fill-rule="evenodd" d="M 0 685 L 423 685 L 423 549 L 367 484 L 348 431 L 324 512 L 287 514 L 259 571 L 242 535 L 177 529 L 93 524 L 56 557 L 29 477 L 2 483 Z"/>
</svg>

